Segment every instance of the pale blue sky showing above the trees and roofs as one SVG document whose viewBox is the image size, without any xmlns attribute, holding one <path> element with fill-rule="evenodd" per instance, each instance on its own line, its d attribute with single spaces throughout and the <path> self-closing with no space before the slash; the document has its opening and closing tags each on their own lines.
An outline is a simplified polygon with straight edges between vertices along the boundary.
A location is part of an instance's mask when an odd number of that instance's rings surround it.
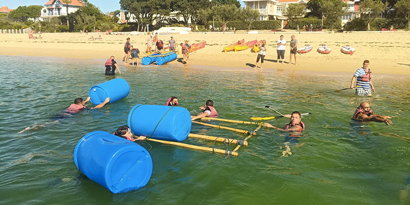
<svg viewBox="0 0 410 205">
<path fill-rule="evenodd" d="M 119 0 L 89 0 L 88 2 L 99 7 L 103 13 L 119 10 Z M 9 9 L 16 9 L 18 6 L 29 5 L 44 6 L 46 3 L 47 0 L 0 0 L 0 6 L 7 6 Z"/>
</svg>

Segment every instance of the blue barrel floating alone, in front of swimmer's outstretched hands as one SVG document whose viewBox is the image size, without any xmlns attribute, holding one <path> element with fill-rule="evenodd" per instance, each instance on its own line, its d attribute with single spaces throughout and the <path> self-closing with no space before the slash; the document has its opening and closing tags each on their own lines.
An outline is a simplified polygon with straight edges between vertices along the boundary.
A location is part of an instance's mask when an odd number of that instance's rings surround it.
<svg viewBox="0 0 410 205">
<path fill-rule="evenodd" d="M 130 86 L 127 81 L 122 78 L 115 78 L 105 83 L 93 86 L 90 89 L 89 96 L 91 103 L 98 105 L 104 102 L 107 97 L 110 97 L 110 103 L 114 103 L 130 93 Z"/>
</svg>

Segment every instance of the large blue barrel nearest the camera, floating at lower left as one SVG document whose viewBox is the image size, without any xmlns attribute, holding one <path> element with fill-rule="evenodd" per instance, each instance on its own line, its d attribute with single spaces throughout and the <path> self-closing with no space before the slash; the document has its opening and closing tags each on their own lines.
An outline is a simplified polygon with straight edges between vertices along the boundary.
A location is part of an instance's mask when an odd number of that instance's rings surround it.
<svg viewBox="0 0 410 205">
<path fill-rule="evenodd" d="M 152 174 L 146 149 L 104 131 L 90 132 L 78 141 L 74 163 L 81 173 L 114 194 L 144 187 Z"/>
</svg>

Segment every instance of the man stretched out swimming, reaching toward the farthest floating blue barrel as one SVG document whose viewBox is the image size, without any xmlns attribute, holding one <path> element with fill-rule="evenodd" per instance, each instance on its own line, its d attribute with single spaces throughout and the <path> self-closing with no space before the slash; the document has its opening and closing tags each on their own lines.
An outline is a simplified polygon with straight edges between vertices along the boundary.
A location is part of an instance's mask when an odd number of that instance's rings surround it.
<svg viewBox="0 0 410 205">
<path fill-rule="evenodd" d="M 109 103 L 109 101 L 110 101 L 110 98 L 107 97 L 107 98 L 104 100 L 103 103 L 101 103 L 101 104 L 99 104 L 99 105 L 97 105 L 97 106 L 95 106 L 95 107 L 93 107 L 93 108 L 88 108 L 88 107 L 86 106 L 86 103 L 87 103 L 88 101 L 90 101 L 90 99 L 91 99 L 90 97 L 88 97 L 86 100 L 84 100 L 83 98 L 75 98 L 74 104 L 71 104 L 71 105 L 70 105 L 67 109 L 65 109 L 63 112 L 61 112 L 60 114 L 58 114 L 58 115 L 52 117 L 52 118 L 51 118 L 52 121 L 49 121 L 49 122 L 46 122 L 46 123 L 40 124 L 40 125 L 34 125 L 34 126 L 31 126 L 31 127 L 27 127 L 26 129 L 24 129 L 24 130 L 18 132 L 18 134 L 20 134 L 20 133 L 22 133 L 22 132 L 25 132 L 25 131 L 28 131 L 28 130 L 37 130 L 38 128 L 45 127 L 46 125 L 49 125 L 49 124 L 53 124 L 53 123 L 55 123 L 55 122 L 58 122 L 58 121 L 61 120 L 61 119 L 65 119 L 65 118 L 67 118 L 67 117 L 72 117 L 73 114 L 78 113 L 78 112 L 83 111 L 83 110 L 92 110 L 92 109 L 102 108 L 102 107 L 104 107 L 107 103 Z"/>
</svg>

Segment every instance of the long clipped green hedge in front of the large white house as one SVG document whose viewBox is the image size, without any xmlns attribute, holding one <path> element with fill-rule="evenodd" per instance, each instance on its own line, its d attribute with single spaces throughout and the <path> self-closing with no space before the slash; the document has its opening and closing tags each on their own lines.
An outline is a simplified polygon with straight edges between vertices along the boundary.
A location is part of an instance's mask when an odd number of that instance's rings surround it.
<svg viewBox="0 0 410 205">
<path fill-rule="evenodd" d="M 280 29 L 281 21 L 280 20 L 251 20 L 250 28 L 248 27 L 247 22 L 243 22 L 242 20 L 234 20 L 232 22 L 227 23 L 227 27 L 235 28 L 236 30 L 247 30 L 255 29 L 255 30 L 272 30 L 272 29 Z M 213 25 L 213 22 L 208 22 L 208 25 Z M 215 28 L 221 28 L 222 23 L 215 22 Z"/>
</svg>

